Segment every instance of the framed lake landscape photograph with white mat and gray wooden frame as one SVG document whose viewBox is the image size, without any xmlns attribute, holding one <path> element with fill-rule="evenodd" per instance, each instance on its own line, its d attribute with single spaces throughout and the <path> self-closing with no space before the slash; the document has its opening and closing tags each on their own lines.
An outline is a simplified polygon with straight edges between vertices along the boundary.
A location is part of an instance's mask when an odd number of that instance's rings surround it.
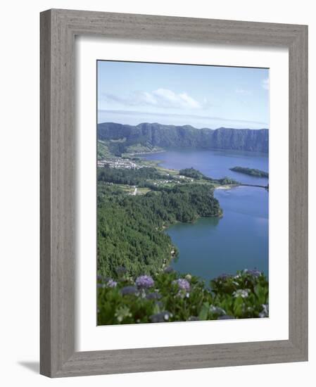
<svg viewBox="0 0 316 387">
<path fill-rule="evenodd" d="M 308 359 L 308 27 L 41 13 L 41 374 Z"/>
</svg>

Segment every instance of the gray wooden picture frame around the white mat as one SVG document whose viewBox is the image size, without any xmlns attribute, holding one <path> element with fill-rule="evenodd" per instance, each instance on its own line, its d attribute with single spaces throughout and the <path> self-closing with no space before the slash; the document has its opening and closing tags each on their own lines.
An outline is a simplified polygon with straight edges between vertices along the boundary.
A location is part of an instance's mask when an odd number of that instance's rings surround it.
<svg viewBox="0 0 316 387">
<path fill-rule="evenodd" d="M 289 340 L 75 352 L 76 35 L 289 49 Z M 41 13 L 41 356 L 46 376 L 308 360 L 308 27 L 52 9 Z"/>
</svg>

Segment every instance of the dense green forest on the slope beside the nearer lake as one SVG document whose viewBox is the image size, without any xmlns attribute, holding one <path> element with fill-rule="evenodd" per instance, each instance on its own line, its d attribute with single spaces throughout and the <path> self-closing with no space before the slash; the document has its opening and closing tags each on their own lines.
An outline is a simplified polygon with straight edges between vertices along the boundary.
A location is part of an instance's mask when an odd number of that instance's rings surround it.
<svg viewBox="0 0 316 387">
<path fill-rule="evenodd" d="M 119 186 L 99 182 L 97 214 L 98 272 L 113 277 L 118 266 L 132 276 L 154 274 L 175 250 L 163 227 L 220 216 L 222 210 L 208 185 L 183 184 L 130 196 Z"/>
</svg>

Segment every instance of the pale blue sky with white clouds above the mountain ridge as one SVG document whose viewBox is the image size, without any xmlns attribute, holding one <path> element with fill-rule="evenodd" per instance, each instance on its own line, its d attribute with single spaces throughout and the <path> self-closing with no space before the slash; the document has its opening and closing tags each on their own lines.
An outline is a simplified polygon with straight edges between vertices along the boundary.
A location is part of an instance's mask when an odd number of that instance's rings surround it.
<svg viewBox="0 0 316 387">
<path fill-rule="evenodd" d="M 269 70 L 97 62 L 98 122 L 269 127 Z"/>
</svg>

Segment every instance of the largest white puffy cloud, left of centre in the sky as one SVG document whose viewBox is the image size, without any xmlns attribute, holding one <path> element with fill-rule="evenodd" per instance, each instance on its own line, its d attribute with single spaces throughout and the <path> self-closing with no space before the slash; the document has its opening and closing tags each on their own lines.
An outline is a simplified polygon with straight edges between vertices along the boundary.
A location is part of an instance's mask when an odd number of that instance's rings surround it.
<svg viewBox="0 0 316 387">
<path fill-rule="evenodd" d="M 127 96 L 114 94 L 102 94 L 108 102 L 119 103 L 122 106 L 156 106 L 157 108 L 189 108 L 201 109 L 204 103 L 196 101 L 186 92 L 175 93 L 169 89 L 157 89 L 154 91 L 134 91 Z"/>
</svg>

